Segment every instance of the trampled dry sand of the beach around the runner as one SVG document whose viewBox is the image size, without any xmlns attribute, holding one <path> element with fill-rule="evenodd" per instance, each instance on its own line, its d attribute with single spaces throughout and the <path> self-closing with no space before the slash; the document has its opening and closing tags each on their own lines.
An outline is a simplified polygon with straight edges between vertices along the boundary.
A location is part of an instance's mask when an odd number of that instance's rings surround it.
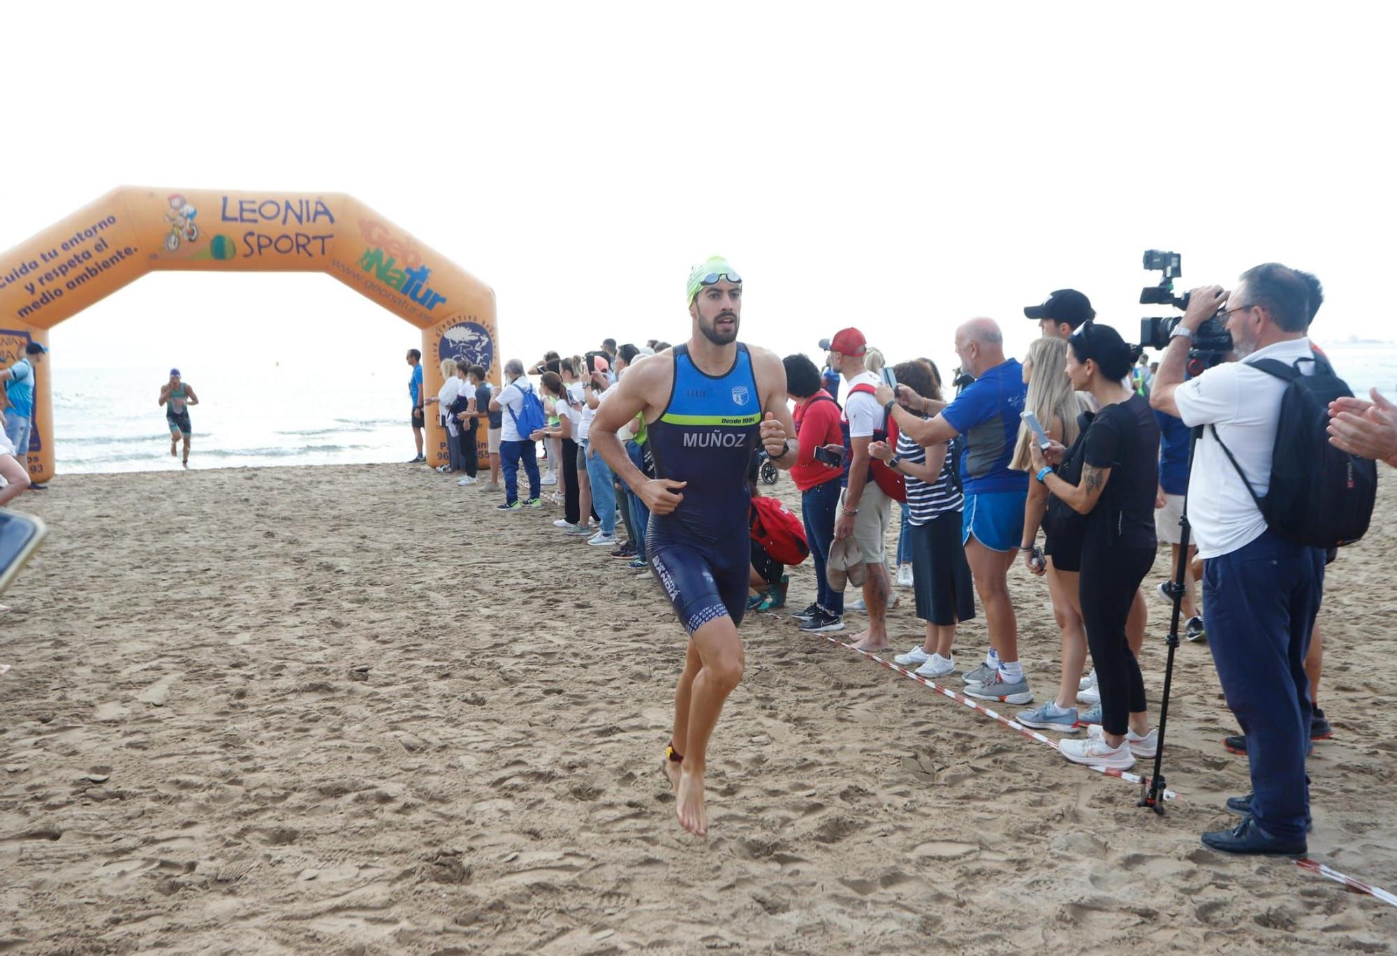
<svg viewBox="0 0 1397 956">
<path fill-rule="evenodd" d="M 1393 890 L 1383 478 L 1373 530 L 1329 579 L 1337 732 L 1310 760 L 1310 855 Z M 795 505 L 788 479 L 777 493 Z M 788 616 L 749 618 L 710 751 L 711 836 L 692 839 L 659 773 L 683 633 L 658 588 L 562 538 L 556 509 L 499 500 L 405 465 L 27 495 L 50 537 L 0 628 L 0 952 L 1397 948 L 1397 908 L 1200 846 L 1248 790 L 1203 646 L 1179 650 L 1179 799 L 1157 818 L 1134 787 Z M 792 607 L 812 576 L 792 573 Z M 1048 591 L 1020 569 L 1011 587 L 1042 697 Z M 905 650 L 921 630 L 900 593 Z M 1150 604 L 1154 709 L 1166 622 Z M 981 619 L 957 664 L 983 646 Z"/>
</svg>

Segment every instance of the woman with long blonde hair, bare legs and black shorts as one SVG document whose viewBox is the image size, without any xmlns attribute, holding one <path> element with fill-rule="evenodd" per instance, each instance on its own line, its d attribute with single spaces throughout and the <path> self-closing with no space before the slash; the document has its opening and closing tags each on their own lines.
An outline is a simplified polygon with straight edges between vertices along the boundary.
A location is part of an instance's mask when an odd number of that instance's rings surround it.
<svg viewBox="0 0 1397 956">
<path fill-rule="evenodd" d="M 1028 396 L 1024 408 L 1038 417 L 1048 437 L 1074 447 L 1081 428 L 1077 422 L 1080 405 L 1066 373 L 1067 341 L 1063 338 L 1038 338 L 1028 347 L 1024 358 L 1024 383 Z M 1030 444 L 1034 435 L 1027 425 L 1018 429 L 1018 443 L 1010 468 L 1030 471 L 1032 457 Z M 1070 456 L 1069 456 L 1070 457 Z M 1065 464 L 1065 468 L 1069 465 Z M 1078 465 L 1080 467 L 1080 465 Z M 1074 478 L 1076 481 L 1076 478 Z M 1055 507 L 1046 521 L 1044 552 L 1035 549 L 1038 528 L 1048 514 L 1048 488 L 1042 482 L 1028 482 L 1028 499 L 1024 502 L 1024 535 L 1020 551 L 1028 570 L 1039 577 L 1048 577 L 1048 593 L 1052 595 L 1052 614 L 1062 630 L 1062 678 L 1058 696 L 1041 707 L 1018 714 L 1025 727 L 1039 727 L 1074 732 L 1077 720 L 1077 690 L 1083 668 L 1087 662 L 1087 630 L 1081 622 L 1081 604 L 1077 598 L 1077 573 L 1081 569 L 1081 534 L 1085 520 L 1070 509 Z"/>
</svg>

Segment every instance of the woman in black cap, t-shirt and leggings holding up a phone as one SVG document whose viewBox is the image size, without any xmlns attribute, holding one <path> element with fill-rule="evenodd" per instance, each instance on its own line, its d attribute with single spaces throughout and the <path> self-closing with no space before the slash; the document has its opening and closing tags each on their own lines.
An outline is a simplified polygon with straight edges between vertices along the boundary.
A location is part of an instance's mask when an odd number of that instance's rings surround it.
<svg viewBox="0 0 1397 956">
<path fill-rule="evenodd" d="M 1067 340 L 1067 377 L 1101 405 L 1080 439 L 1080 479 L 1053 470 L 1067 451 L 1060 442 L 1046 453 L 1037 442 L 1028 449 L 1037 482 L 1087 519 L 1077 607 L 1097 665 L 1101 724 L 1087 728 L 1085 741 L 1063 741 L 1058 752 L 1073 763 L 1118 770 L 1153 758 L 1158 745 L 1140 662 L 1126 639 L 1130 605 L 1154 565 L 1160 485 L 1160 428 L 1150 403 L 1122 384 L 1139 355 L 1140 347 L 1127 345 L 1109 326 L 1078 326 Z"/>
</svg>

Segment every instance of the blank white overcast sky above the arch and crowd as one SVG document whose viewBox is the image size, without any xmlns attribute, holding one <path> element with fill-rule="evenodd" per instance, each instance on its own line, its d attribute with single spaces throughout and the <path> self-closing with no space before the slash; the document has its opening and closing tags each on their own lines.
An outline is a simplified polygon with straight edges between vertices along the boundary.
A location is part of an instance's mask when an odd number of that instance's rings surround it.
<svg viewBox="0 0 1397 956">
<path fill-rule="evenodd" d="M 715 252 L 782 354 L 855 324 L 944 361 L 975 314 L 1021 352 L 1065 285 L 1134 340 L 1147 247 L 1182 288 L 1310 270 L 1317 340 L 1397 338 L 1386 4 L 73 10 L 6 8 L 0 249 L 117 184 L 342 190 L 495 287 L 507 356 L 683 340 Z M 418 341 L 328 277 L 198 273 L 52 338 L 186 375 Z"/>
</svg>

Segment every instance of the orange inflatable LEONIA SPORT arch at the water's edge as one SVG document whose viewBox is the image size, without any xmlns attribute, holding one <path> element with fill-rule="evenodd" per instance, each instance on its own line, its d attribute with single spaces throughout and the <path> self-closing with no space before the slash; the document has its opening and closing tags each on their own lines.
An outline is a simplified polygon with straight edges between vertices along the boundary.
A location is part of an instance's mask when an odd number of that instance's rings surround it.
<svg viewBox="0 0 1397 956">
<path fill-rule="evenodd" d="M 8 366 L 31 341 L 46 347 L 50 328 L 149 271 L 191 268 L 328 273 L 422 330 L 429 396 L 444 358 L 500 382 L 493 289 L 342 193 L 115 189 L 0 256 L 0 361 Z M 35 376 L 34 481 L 53 477 L 52 358 Z M 446 464 L 446 440 L 427 415 L 433 464 Z"/>
</svg>

